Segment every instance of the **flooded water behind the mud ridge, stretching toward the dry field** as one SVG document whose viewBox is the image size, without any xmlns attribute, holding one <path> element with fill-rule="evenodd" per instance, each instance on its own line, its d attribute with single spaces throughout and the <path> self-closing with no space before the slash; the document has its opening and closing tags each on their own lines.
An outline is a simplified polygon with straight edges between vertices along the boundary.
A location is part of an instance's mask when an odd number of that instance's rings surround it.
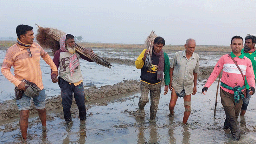
<svg viewBox="0 0 256 144">
<path fill-rule="evenodd" d="M 0 48 L 0 65 L 2 64 L 7 48 Z M 107 57 L 111 61 L 113 67 L 111 69 L 90 63 L 85 60 L 80 60 L 81 70 L 83 74 L 84 85 L 91 86 L 104 86 L 117 84 L 123 80 L 139 80 L 140 70 L 134 66 L 134 60 L 141 53 L 141 49 L 124 49 L 124 48 L 94 48 L 94 53 L 101 57 Z M 50 51 L 49 51 L 50 52 Z M 176 51 L 165 51 L 171 61 L 173 54 Z M 200 66 L 214 66 L 221 55 L 225 53 L 219 52 L 197 52 L 200 56 Z M 121 64 L 121 65 L 120 65 Z M 122 65 L 125 64 L 125 65 Z M 45 87 L 46 98 L 52 98 L 59 95 L 59 86 L 53 84 L 50 80 L 50 67 L 44 60 L 40 60 L 43 84 Z M 13 67 L 11 68 L 13 73 Z M 10 83 L 0 73 L 0 103 L 5 100 L 14 99 L 14 85 Z"/>
</svg>

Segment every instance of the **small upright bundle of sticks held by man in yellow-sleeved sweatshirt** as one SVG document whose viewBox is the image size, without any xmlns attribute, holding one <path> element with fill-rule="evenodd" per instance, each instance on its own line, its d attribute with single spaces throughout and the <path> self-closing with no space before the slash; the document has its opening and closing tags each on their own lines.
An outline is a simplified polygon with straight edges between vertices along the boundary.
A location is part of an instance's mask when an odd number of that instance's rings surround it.
<svg viewBox="0 0 256 144">
<path fill-rule="evenodd" d="M 146 60 L 145 60 L 146 68 L 151 66 L 151 63 L 152 63 L 153 43 L 154 43 L 154 40 L 156 37 L 157 37 L 157 35 L 155 34 L 155 32 L 152 31 L 145 40 L 145 47 L 147 48 L 147 50 L 149 50 Z"/>
</svg>

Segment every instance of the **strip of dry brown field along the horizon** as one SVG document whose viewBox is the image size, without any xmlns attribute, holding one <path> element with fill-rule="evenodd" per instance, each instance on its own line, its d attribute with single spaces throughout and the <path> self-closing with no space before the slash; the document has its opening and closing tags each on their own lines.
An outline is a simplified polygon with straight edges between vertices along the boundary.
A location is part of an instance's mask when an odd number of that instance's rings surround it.
<svg viewBox="0 0 256 144">
<path fill-rule="evenodd" d="M 11 47 L 16 41 L 0 41 L 0 47 Z M 78 45 L 90 48 L 144 48 L 143 44 L 107 44 L 107 43 L 91 43 L 91 42 L 77 42 Z M 184 45 L 165 45 L 164 49 L 182 51 L 184 50 Z M 206 52 L 230 52 L 230 46 L 206 46 L 197 45 L 196 51 L 206 51 Z"/>
</svg>

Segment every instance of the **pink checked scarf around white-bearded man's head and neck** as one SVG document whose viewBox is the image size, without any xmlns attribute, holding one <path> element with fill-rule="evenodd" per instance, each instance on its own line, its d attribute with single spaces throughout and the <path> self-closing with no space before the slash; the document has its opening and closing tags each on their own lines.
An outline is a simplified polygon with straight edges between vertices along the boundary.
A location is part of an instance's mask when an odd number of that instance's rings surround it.
<svg viewBox="0 0 256 144">
<path fill-rule="evenodd" d="M 60 41 L 59 41 L 59 46 L 60 46 L 60 50 L 64 51 L 64 52 L 69 52 L 67 49 L 66 49 L 66 35 L 67 34 L 64 34 L 61 38 L 60 38 Z M 79 62 L 78 62 L 78 59 L 76 57 L 76 53 L 73 53 L 69 55 L 69 70 L 70 70 L 70 74 L 71 74 L 71 77 L 73 77 L 73 73 L 75 72 L 75 68 L 79 66 Z"/>
</svg>

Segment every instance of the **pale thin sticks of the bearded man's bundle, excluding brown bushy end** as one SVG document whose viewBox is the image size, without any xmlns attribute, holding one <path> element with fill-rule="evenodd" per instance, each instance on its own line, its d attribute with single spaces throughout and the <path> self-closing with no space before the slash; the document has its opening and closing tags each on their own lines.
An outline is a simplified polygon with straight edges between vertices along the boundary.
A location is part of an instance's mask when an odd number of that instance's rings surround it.
<svg viewBox="0 0 256 144">
<path fill-rule="evenodd" d="M 43 28 L 43 27 L 41 27 L 41 26 L 39 26 L 39 25 L 37 25 L 37 24 L 36 24 L 36 26 L 37 26 L 38 28 Z M 53 31 L 49 31 L 49 33 L 47 33 L 47 35 L 49 35 L 50 37 L 52 37 L 53 39 L 55 39 L 56 41 L 59 42 L 59 41 L 60 41 L 60 38 L 61 38 L 62 35 L 63 35 L 63 33 L 64 33 L 64 32 L 59 31 L 59 30 L 57 30 L 57 31 L 56 31 L 56 30 L 53 30 Z M 65 33 L 64 33 L 64 34 L 65 34 Z M 94 53 L 92 53 L 92 52 L 90 52 L 90 53 L 88 53 L 88 54 L 84 54 L 84 53 L 83 53 L 83 51 L 84 51 L 84 49 L 85 49 L 84 47 L 79 46 L 78 44 L 75 43 L 75 49 L 76 49 L 76 52 L 83 54 L 85 57 L 88 57 L 89 59 L 93 60 L 96 64 L 102 65 L 102 66 L 105 66 L 105 67 L 108 67 L 108 68 L 111 69 L 110 66 L 112 66 L 112 65 L 111 65 L 107 60 L 105 60 L 105 59 L 99 57 L 98 55 L 96 55 L 96 54 L 94 54 Z"/>
</svg>

